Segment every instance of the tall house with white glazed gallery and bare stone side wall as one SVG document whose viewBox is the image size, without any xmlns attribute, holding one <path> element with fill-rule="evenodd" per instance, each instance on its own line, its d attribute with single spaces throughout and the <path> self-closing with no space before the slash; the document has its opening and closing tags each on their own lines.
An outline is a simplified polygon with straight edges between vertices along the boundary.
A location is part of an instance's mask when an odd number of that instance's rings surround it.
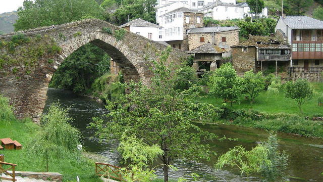
<svg viewBox="0 0 323 182">
<path fill-rule="evenodd" d="M 203 27 L 203 13 L 185 7 L 160 16 L 159 25 L 164 27 L 164 39 L 173 48 L 188 50 L 187 32 L 194 27 Z"/>
</svg>

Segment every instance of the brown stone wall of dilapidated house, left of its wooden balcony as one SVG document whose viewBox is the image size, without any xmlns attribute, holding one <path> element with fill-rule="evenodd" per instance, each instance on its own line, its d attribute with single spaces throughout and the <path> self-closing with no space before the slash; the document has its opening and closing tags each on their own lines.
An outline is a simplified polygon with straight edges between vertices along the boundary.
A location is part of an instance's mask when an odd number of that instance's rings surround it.
<svg viewBox="0 0 323 182">
<path fill-rule="evenodd" d="M 243 75 L 244 72 L 255 70 L 256 48 L 246 47 L 247 51 L 242 51 L 242 47 L 232 48 L 232 65 L 236 69 L 238 75 Z"/>
</svg>

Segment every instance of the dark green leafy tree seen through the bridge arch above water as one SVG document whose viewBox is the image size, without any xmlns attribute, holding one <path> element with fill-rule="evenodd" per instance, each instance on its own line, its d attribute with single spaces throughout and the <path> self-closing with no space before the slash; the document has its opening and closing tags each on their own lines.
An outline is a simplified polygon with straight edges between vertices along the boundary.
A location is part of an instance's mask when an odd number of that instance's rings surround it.
<svg viewBox="0 0 323 182">
<path fill-rule="evenodd" d="M 89 43 L 71 54 L 53 74 L 50 87 L 85 94 L 94 80 L 110 70 L 110 57 Z"/>
</svg>

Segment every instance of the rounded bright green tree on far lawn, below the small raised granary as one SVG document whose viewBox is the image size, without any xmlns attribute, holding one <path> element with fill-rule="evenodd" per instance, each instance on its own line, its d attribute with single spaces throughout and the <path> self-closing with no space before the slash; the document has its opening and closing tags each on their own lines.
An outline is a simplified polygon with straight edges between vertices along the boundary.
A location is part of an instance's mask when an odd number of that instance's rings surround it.
<svg viewBox="0 0 323 182">
<path fill-rule="evenodd" d="M 237 76 L 231 63 L 225 63 L 209 76 L 207 83 L 210 94 L 220 97 L 224 102 L 236 102 L 243 92 L 242 78 Z"/>
</svg>

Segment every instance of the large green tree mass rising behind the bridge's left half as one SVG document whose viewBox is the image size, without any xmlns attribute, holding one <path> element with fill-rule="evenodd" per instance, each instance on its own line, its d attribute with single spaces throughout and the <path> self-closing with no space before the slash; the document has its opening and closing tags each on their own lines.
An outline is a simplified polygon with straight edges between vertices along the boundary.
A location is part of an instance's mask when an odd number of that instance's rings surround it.
<svg viewBox="0 0 323 182">
<path fill-rule="evenodd" d="M 18 9 L 15 31 L 78 21 L 84 16 L 103 19 L 104 11 L 94 0 L 25 1 Z"/>
</svg>

